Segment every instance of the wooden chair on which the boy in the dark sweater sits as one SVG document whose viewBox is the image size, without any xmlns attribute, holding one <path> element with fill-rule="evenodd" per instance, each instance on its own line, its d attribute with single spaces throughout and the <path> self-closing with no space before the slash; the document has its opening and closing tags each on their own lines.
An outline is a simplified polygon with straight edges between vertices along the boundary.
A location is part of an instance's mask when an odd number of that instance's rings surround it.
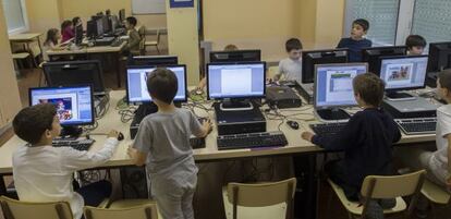
<svg viewBox="0 0 451 219">
<path fill-rule="evenodd" d="M 412 195 L 411 204 L 409 205 L 407 210 L 407 216 L 410 216 L 417 202 L 425 173 L 425 170 L 420 170 L 403 175 L 366 177 L 361 190 L 362 196 L 365 197 L 363 205 L 361 203 L 349 200 L 340 186 L 333 183 L 330 179 L 328 179 L 328 182 L 344 208 L 348 210 L 349 218 L 354 218 L 354 216 L 362 216 L 361 218 L 365 219 L 369 200 L 374 198 L 395 198 L 395 206 L 390 209 L 383 209 L 383 215 L 404 211 L 407 207 L 405 202 L 402 199 L 402 196 Z"/>
</svg>

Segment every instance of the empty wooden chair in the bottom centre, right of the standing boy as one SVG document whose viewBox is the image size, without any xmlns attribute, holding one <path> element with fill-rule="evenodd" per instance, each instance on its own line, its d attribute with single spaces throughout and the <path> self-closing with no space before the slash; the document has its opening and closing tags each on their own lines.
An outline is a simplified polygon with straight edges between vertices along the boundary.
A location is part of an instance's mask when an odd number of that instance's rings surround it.
<svg viewBox="0 0 451 219">
<path fill-rule="evenodd" d="M 296 179 L 280 182 L 229 183 L 222 191 L 227 218 L 290 218 Z"/>
</svg>

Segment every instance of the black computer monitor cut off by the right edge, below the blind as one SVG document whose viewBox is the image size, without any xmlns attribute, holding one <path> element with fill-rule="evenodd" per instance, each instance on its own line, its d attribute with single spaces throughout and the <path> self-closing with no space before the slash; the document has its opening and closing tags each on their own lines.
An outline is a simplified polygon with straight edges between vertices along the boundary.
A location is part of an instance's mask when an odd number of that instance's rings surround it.
<svg viewBox="0 0 451 219">
<path fill-rule="evenodd" d="M 451 68 L 451 41 L 429 44 L 428 72 Z"/>
</svg>

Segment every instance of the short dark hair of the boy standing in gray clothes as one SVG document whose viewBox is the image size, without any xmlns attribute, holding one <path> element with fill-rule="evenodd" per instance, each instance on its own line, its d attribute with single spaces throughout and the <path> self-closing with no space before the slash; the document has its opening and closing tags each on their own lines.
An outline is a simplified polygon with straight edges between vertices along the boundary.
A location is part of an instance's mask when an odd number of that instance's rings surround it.
<svg viewBox="0 0 451 219">
<path fill-rule="evenodd" d="M 147 77 L 147 90 L 151 97 L 168 105 L 172 102 L 179 89 L 179 82 L 171 70 L 158 68 Z"/>
</svg>

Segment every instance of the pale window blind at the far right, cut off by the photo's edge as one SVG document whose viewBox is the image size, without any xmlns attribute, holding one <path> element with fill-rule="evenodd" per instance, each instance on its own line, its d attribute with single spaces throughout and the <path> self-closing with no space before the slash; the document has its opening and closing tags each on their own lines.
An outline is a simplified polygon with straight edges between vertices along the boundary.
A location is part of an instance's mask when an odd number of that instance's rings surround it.
<svg viewBox="0 0 451 219">
<path fill-rule="evenodd" d="M 412 34 L 426 38 L 427 42 L 451 40 L 451 1 L 416 0 Z"/>
</svg>

